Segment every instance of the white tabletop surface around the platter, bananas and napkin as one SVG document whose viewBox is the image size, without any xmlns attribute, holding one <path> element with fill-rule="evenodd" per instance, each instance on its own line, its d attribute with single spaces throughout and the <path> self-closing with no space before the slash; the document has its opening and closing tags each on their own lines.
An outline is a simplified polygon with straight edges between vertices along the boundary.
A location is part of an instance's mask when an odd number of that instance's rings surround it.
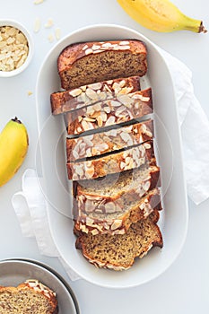
<svg viewBox="0 0 209 314">
<path fill-rule="evenodd" d="M 209 4 L 206 0 L 173 2 L 178 4 L 184 13 L 202 19 L 209 29 Z M 76 2 L 45 0 L 39 5 L 33 4 L 33 0 L 6 2 L 0 0 L 0 4 L 0 18 L 12 18 L 22 22 L 31 32 L 35 44 L 30 67 L 19 76 L 0 79 L 0 128 L 2 129 L 10 118 L 17 116 L 27 126 L 30 138 L 29 153 L 21 170 L 8 184 L 0 188 L 0 259 L 8 257 L 38 259 L 54 267 L 67 279 L 57 258 L 40 256 L 35 240 L 22 237 L 11 204 L 11 197 L 21 189 L 23 171 L 35 168 L 38 136 L 35 109 L 36 78 L 43 58 L 57 43 L 57 39 L 50 43 L 48 36 L 53 34 L 57 27 L 61 29 L 62 36 L 65 36 L 71 31 L 93 23 L 117 23 L 141 32 L 173 56 L 179 57 L 192 70 L 196 97 L 209 117 L 209 33 L 179 31 L 167 34 L 146 30 L 131 20 L 116 0 Z M 33 32 L 36 18 L 42 22 L 39 33 Z M 44 28 L 48 18 L 52 18 L 55 24 L 51 29 Z M 29 91 L 33 92 L 30 96 Z M 189 222 L 184 248 L 175 263 L 157 279 L 125 290 L 109 290 L 83 280 L 71 282 L 67 279 L 74 289 L 83 314 L 209 312 L 209 200 L 198 206 L 189 200 L 188 205 Z"/>
</svg>

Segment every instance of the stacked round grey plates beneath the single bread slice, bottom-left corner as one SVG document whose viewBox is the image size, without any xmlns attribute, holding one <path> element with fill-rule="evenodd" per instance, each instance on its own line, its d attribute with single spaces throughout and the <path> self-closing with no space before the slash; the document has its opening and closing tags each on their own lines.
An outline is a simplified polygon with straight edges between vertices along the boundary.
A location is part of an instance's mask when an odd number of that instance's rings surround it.
<svg viewBox="0 0 209 314">
<path fill-rule="evenodd" d="M 71 288 L 51 271 L 48 266 L 34 261 L 11 259 L 0 262 L 0 285 L 17 286 L 27 279 L 38 279 L 57 293 L 59 314 L 79 314 L 78 305 Z"/>
</svg>

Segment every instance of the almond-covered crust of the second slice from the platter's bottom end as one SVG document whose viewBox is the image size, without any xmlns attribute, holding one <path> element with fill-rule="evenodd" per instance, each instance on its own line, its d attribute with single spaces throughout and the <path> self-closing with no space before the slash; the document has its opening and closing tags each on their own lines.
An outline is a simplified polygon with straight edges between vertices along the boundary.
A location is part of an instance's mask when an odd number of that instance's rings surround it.
<svg viewBox="0 0 209 314">
<path fill-rule="evenodd" d="M 127 193 L 122 198 L 132 198 Z M 74 231 L 83 231 L 83 233 L 96 234 L 125 234 L 132 223 L 148 217 L 154 210 L 161 211 L 161 193 L 159 188 L 153 188 L 144 196 L 137 197 L 133 195 L 133 203 L 128 209 L 121 210 L 118 213 L 97 214 L 94 212 L 86 213 L 80 208 L 74 208 Z M 93 198 L 93 197 L 92 197 Z M 96 197 L 95 197 L 96 198 Z M 136 201 L 134 201 L 136 199 Z M 117 205 L 117 200 L 113 201 Z"/>
</svg>

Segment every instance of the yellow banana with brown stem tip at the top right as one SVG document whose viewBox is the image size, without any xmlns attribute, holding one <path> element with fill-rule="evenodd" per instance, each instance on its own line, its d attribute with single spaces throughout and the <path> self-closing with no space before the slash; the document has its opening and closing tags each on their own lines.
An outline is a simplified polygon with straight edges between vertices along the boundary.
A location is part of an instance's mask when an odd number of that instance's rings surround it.
<svg viewBox="0 0 209 314">
<path fill-rule="evenodd" d="M 136 22 L 152 31 L 206 32 L 203 22 L 188 17 L 169 0 L 118 0 Z"/>
</svg>

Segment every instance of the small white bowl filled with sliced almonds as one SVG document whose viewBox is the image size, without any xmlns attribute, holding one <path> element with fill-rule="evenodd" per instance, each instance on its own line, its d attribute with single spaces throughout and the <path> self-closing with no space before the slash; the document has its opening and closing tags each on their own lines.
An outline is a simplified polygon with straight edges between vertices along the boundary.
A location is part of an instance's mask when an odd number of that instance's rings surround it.
<svg viewBox="0 0 209 314">
<path fill-rule="evenodd" d="M 20 74 L 30 64 L 32 54 L 32 39 L 22 24 L 0 20 L 0 76 Z"/>
</svg>

